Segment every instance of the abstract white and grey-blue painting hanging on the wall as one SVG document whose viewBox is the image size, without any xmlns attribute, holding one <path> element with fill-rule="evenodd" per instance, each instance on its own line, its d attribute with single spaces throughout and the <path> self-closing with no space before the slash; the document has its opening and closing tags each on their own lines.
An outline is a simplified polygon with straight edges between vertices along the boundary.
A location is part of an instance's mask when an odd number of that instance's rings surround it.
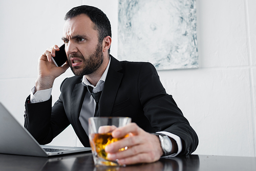
<svg viewBox="0 0 256 171">
<path fill-rule="evenodd" d="M 198 68 L 196 0 L 119 0 L 118 59 Z"/>
</svg>

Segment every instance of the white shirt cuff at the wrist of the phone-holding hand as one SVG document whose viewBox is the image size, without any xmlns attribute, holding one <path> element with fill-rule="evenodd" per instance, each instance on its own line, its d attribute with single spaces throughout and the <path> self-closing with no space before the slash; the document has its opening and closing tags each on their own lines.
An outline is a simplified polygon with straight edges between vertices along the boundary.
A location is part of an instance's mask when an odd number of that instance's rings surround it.
<svg viewBox="0 0 256 171">
<path fill-rule="evenodd" d="M 30 92 L 31 103 L 43 102 L 51 98 L 52 88 L 36 91 L 35 94 L 34 94 L 34 91 L 35 91 L 35 87 L 33 87 Z"/>
</svg>

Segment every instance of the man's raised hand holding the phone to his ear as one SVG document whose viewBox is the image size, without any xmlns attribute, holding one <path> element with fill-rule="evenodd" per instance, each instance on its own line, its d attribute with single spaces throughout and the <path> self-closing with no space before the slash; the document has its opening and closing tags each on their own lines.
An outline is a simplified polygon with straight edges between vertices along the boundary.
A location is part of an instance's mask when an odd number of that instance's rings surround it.
<svg viewBox="0 0 256 171">
<path fill-rule="evenodd" d="M 38 76 L 35 82 L 35 92 L 52 88 L 54 79 L 65 73 L 69 68 L 68 62 L 62 67 L 55 66 L 52 61 L 52 57 L 55 56 L 55 51 L 59 51 L 57 45 L 48 48 L 38 59 Z"/>
</svg>

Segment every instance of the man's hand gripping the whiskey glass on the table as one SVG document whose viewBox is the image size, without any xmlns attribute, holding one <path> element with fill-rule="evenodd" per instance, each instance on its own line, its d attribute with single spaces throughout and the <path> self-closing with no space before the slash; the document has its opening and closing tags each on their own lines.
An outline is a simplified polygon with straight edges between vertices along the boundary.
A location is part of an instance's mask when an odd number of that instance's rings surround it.
<svg viewBox="0 0 256 171">
<path fill-rule="evenodd" d="M 112 132 L 114 138 L 129 137 L 113 142 L 105 147 L 109 160 L 118 159 L 119 164 L 151 163 L 163 155 L 159 138 L 142 130 L 136 123 L 118 127 Z M 124 151 L 119 149 L 128 147 Z"/>
</svg>

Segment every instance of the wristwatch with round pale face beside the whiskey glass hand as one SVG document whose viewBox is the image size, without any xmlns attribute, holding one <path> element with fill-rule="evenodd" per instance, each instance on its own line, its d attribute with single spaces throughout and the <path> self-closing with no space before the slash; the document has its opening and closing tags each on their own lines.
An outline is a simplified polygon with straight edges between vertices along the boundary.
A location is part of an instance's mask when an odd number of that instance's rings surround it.
<svg viewBox="0 0 256 171">
<path fill-rule="evenodd" d="M 154 133 L 154 135 L 157 135 L 159 137 L 159 140 L 161 142 L 161 147 L 164 153 L 163 156 L 170 155 L 171 154 L 170 152 L 173 149 L 173 143 L 172 141 L 170 141 L 170 138 L 164 134 Z"/>
</svg>

